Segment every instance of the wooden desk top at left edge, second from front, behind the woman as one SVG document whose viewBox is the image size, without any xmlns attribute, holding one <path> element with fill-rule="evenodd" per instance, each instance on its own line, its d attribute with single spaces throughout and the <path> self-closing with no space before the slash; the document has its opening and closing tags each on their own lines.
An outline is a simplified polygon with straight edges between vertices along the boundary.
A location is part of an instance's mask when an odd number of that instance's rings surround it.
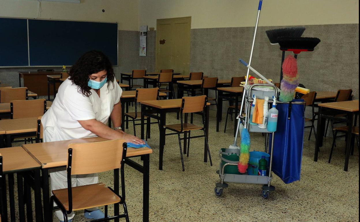
<svg viewBox="0 0 360 222">
<path fill-rule="evenodd" d="M 22 119 L 2 119 L 0 128 L 6 131 L 6 134 L 36 132 L 37 117 Z"/>
</svg>

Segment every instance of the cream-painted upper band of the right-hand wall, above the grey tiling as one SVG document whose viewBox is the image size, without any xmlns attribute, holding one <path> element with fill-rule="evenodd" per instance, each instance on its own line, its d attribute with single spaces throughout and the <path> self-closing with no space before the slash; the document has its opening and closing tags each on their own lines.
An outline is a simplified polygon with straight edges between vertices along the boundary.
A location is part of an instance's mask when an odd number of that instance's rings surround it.
<svg viewBox="0 0 360 222">
<path fill-rule="evenodd" d="M 251 27 L 257 0 L 139 0 L 139 25 L 192 17 L 192 28 Z M 259 26 L 359 23 L 359 0 L 264 0 Z"/>
</svg>

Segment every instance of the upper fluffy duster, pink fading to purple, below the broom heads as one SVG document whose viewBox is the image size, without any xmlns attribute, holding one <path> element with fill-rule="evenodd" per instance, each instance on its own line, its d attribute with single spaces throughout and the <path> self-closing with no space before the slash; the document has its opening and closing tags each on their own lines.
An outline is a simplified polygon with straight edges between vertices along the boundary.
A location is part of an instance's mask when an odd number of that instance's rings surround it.
<svg viewBox="0 0 360 222">
<path fill-rule="evenodd" d="M 283 80 L 279 100 L 290 102 L 295 95 L 295 89 L 299 85 L 297 77 L 297 63 L 292 55 L 288 55 L 283 63 Z"/>
</svg>

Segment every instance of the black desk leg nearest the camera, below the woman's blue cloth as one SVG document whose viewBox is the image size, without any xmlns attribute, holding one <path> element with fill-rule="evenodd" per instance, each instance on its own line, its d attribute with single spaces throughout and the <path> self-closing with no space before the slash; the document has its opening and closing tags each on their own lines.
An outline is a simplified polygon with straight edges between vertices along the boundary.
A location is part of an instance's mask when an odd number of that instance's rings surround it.
<svg viewBox="0 0 360 222">
<path fill-rule="evenodd" d="M 150 178 L 150 155 L 144 155 L 143 171 L 143 222 L 149 222 L 149 178 Z"/>
</svg>

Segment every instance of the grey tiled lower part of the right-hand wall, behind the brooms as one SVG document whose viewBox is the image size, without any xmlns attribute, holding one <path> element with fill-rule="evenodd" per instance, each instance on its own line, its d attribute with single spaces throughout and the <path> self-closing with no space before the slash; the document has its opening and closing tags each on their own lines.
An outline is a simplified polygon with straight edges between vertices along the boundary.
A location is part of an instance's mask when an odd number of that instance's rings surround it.
<svg viewBox="0 0 360 222">
<path fill-rule="evenodd" d="M 352 89 L 359 98 L 359 24 L 305 26 L 304 37 L 321 42 L 313 52 L 298 55 L 300 82 L 310 90 Z M 283 27 L 258 27 L 252 67 L 275 82 L 280 80 L 279 46 L 270 45 L 265 31 Z M 191 30 L 190 71 L 230 79 L 245 75 L 239 58 L 249 60 L 254 27 Z M 290 53 L 287 53 L 288 55 Z"/>
</svg>

